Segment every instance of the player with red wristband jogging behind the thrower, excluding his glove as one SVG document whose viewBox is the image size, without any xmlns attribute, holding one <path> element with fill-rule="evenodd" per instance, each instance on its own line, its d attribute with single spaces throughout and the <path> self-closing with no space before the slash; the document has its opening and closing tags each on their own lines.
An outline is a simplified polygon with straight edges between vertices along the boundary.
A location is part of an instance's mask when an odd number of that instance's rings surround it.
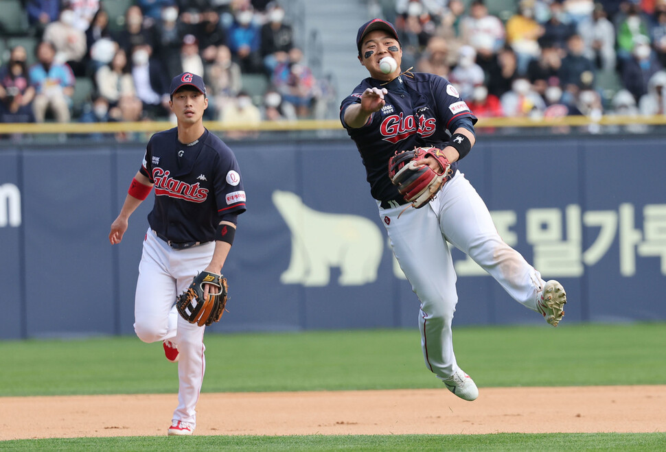
<svg viewBox="0 0 666 452">
<path fill-rule="evenodd" d="M 203 79 L 192 73 L 171 82 L 170 106 L 177 126 L 154 134 L 130 184 L 108 239 L 120 243 L 128 219 L 155 188 L 148 215 L 135 297 L 134 329 L 143 342 L 163 341 L 167 359 L 178 361 L 179 405 L 169 435 L 192 435 L 196 401 L 205 372 L 205 326 L 187 322 L 174 303 L 201 270 L 221 273 L 245 191 L 236 156 L 203 126 L 208 106 Z M 217 287 L 203 285 L 205 296 Z"/>
</svg>

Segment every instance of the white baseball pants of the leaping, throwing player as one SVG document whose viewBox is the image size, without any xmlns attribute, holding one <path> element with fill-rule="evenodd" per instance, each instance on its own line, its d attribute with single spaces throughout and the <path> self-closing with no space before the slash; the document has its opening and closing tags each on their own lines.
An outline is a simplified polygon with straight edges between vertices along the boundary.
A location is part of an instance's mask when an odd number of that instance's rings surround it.
<svg viewBox="0 0 666 452">
<path fill-rule="evenodd" d="M 457 368 L 451 331 L 458 302 L 457 276 L 449 243 L 532 311 L 537 311 L 537 297 L 545 281 L 501 239 L 485 202 L 460 171 L 428 206 L 410 207 L 398 218 L 405 207 L 379 206 L 379 214 L 393 254 L 421 301 L 419 327 L 426 366 L 446 379 Z"/>
</svg>

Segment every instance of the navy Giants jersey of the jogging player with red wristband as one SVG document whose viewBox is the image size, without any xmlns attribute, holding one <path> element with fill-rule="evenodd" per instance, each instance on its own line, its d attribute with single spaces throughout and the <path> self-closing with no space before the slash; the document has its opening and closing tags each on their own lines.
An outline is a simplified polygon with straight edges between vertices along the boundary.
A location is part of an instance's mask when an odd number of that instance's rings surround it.
<svg viewBox="0 0 666 452">
<path fill-rule="evenodd" d="M 208 130 L 189 145 L 176 128 L 154 134 L 139 171 L 155 189 L 148 223 L 171 241 L 211 241 L 222 217 L 245 211 L 236 156 Z"/>
</svg>

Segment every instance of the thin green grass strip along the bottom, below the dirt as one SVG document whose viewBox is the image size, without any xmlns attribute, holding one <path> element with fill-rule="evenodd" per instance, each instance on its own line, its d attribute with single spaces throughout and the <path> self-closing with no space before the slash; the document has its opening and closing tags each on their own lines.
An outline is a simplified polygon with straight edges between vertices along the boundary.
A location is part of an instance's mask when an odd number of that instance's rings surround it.
<svg viewBox="0 0 666 452">
<path fill-rule="evenodd" d="M 192 436 L 0 442 L 0 449 L 95 451 L 663 451 L 666 433 L 494 433 L 393 436 Z"/>
</svg>

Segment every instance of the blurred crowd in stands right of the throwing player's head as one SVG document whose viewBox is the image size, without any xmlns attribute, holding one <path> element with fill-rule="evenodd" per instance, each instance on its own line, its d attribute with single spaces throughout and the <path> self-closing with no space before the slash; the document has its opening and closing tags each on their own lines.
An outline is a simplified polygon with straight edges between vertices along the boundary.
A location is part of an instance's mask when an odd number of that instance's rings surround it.
<svg viewBox="0 0 666 452">
<path fill-rule="evenodd" d="M 666 0 L 369 1 L 478 117 L 663 115 Z M 494 11 L 496 14 L 492 14 Z"/>
</svg>

